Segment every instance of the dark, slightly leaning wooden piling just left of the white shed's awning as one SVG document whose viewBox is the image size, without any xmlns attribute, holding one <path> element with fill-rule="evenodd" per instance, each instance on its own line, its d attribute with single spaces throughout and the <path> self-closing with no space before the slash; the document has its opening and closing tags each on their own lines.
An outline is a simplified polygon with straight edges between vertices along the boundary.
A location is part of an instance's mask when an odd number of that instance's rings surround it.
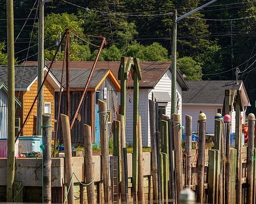
<svg viewBox="0 0 256 204">
<path fill-rule="evenodd" d="M 150 110 L 150 141 L 151 141 L 151 168 L 153 177 L 153 200 L 158 199 L 158 163 L 157 163 L 157 132 L 156 132 L 156 103 L 148 100 Z"/>
</svg>

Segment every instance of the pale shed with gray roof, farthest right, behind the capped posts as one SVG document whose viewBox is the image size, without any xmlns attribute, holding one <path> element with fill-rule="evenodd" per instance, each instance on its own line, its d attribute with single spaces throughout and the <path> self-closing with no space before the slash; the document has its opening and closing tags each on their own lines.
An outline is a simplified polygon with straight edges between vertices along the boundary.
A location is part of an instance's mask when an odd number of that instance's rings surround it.
<svg viewBox="0 0 256 204">
<path fill-rule="evenodd" d="M 186 81 L 189 90 L 183 91 L 182 123 L 185 124 L 185 114 L 193 117 L 193 131 L 197 131 L 198 114 L 203 111 L 207 117 L 206 132 L 214 134 L 215 114 L 222 113 L 225 90 L 241 90 L 243 122 L 245 122 L 246 109 L 250 106 L 243 81 Z M 236 112 L 231 111 L 231 131 L 235 131 Z"/>
</svg>

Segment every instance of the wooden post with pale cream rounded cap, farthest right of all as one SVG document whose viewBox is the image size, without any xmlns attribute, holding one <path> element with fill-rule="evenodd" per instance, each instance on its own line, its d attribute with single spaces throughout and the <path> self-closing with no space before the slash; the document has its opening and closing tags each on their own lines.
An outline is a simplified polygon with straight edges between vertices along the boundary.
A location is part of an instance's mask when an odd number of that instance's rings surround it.
<svg viewBox="0 0 256 204">
<path fill-rule="evenodd" d="M 248 115 L 248 147 L 247 147 L 247 181 L 248 181 L 248 203 L 252 202 L 253 195 L 253 145 L 254 145 L 254 126 L 255 116 L 253 113 Z"/>
</svg>

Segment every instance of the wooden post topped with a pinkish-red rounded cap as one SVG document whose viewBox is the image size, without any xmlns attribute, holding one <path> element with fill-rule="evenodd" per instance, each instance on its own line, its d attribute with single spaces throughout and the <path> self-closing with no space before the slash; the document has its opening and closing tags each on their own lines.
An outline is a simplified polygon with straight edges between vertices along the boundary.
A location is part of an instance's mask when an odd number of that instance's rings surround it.
<svg viewBox="0 0 256 204">
<path fill-rule="evenodd" d="M 230 180 L 231 180 L 231 169 L 230 169 L 230 133 L 231 133 L 231 116 L 224 116 L 224 123 L 226 125 L 226 171 L 225 171 L 225 203 L 230 203 Z"/>
</svg>

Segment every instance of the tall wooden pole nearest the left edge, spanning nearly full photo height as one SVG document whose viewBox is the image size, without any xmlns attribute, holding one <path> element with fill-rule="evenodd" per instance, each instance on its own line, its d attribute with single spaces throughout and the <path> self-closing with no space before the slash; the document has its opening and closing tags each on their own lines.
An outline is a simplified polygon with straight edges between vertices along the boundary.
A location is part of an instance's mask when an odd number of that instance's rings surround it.
<svg viewBox="0 0 256 204">
<path fill-rule="evenodd" d="M 14 74 L 14 28 L 13 0 L 6 1 L 7 13 L 7 56 L 8 56 L 8 141 L 7 141 L 7 182 L 6 200 L 13 198 L 14 152 L 15 152 L 15 74 Z"/>
</svg>

